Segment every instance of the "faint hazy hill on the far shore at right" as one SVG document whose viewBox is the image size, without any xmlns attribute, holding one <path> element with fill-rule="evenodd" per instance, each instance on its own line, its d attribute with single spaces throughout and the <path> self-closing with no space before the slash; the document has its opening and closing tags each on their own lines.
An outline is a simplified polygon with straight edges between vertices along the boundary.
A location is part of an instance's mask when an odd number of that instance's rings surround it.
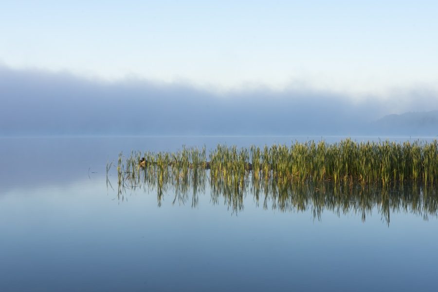
<svg viewBox="0 0 438 292">
<path fill-rule="evenodd" d="M 373 122 L 371 128 L 385 135 L 437 136 L 438 110 L 387 115 Z"/>
</svg>

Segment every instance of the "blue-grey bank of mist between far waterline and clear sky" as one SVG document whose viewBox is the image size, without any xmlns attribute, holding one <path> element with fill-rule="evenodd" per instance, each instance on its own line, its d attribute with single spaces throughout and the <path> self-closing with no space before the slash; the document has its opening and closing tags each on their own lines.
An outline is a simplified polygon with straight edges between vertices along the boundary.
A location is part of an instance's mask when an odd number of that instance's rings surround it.
<svg viewBox="0 0 438 292">
<path fill-rule="evenodd" d="M 438 108 L 437 95 L 421 88 L 359 100 L 311 88 L 218 93 L 184 83 L 107 82 L 5 66 L 0 101 L 2 136 L 368 135 L 387 114 Z"/>
</svg>

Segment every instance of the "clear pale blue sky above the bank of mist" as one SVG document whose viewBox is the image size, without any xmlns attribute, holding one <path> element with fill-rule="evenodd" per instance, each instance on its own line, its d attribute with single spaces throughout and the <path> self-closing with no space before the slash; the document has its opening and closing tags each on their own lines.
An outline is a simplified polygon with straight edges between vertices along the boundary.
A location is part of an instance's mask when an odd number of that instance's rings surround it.
<svg viewBox="0 0 438 292">
<path fill-rule="evenodd" d="M 438 89 L 437 3 L 3 0 L 0 63 L 219 91 L 385 99 Z"/>
</svg>

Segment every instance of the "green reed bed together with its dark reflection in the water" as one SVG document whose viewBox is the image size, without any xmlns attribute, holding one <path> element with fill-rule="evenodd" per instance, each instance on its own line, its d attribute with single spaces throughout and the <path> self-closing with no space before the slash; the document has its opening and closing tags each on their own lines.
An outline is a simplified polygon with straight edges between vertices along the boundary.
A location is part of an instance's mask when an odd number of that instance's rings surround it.
<svg viewBox="0 0 438 292">
<path fill-rule="evenodd" d="M 379 210 L 389 224 L 391 212 L 437 216 L 435 187 L 438 142 L 295 142 L 290 146 L 237 148 L 218 145 L 183 147 L 175 153 L 122 153 L 117 161 L 118 196 L 136 189 L 165 193 L 172 203 L 198 204 L 199 193 L 211 189 L 211 202 L 223 201 L 233 212 L 253 196 L 264 208 L 280 211 L 324 209 L 338 215 L 354 211 L 365 216 Z M 207 159 L 208 157 L 208 159 Z M 107 165 L 107 172 L 112 164 Z M 108 175 L 107 175 L 108 181 Z M 189 195 L 191 193 L 191 196 Z"/>
</svg>

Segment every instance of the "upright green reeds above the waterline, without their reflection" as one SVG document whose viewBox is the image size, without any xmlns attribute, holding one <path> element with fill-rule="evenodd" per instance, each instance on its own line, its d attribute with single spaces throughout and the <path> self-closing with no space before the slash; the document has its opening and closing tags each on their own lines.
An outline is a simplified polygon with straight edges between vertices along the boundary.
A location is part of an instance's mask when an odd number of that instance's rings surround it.
<svg viewBox="0 0 438 292">
<path fill-rule="evenodd" d="M 359 183 L 387 186 L 394 183 L 434 185 L 438 179 L 438 141 L 433 142 L 355 142 L 345 139 L 295 142 L 262 148 L 237 148 L 218 145 L 206 159 L 205 147 L 186 148 L 175 153 L 141 154 L 133 152 L 118 163 L 118 169 L 130 175 L 139 170 L 153 172 L 158 182 L 169 175 L 184 176 L 189 170 L 210 170 L 211 180 L 242 185 L 252 179 L 276 183 Z M 122 159 L 123 160 L 123 159 Z M 121 175 L 121 173 L 119 173 Z"/>
</svg>

